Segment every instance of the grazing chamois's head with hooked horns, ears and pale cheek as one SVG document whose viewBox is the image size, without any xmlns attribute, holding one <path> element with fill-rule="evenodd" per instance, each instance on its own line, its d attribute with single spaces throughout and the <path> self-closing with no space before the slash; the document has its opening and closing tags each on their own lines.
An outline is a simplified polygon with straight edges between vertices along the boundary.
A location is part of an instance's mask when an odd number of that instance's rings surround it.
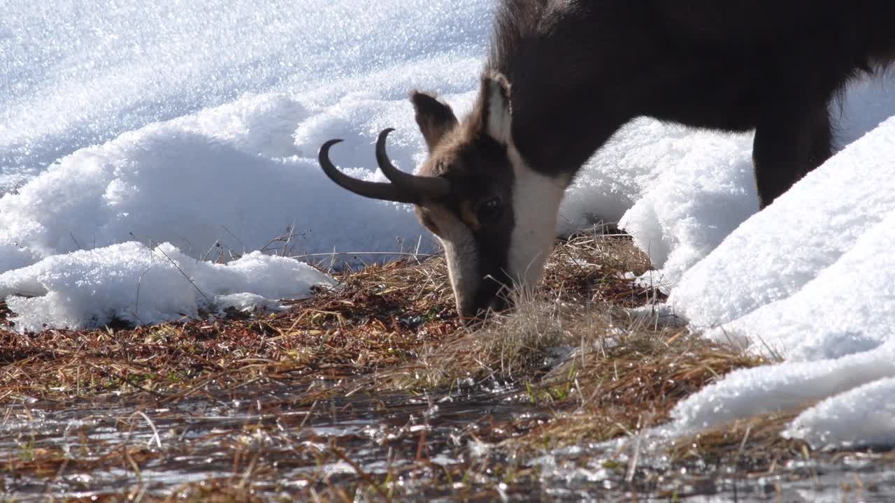
<svg viewBox="0 0 895 503">
<path fill-rule="evenodd" d="M 498 73 L 482 77 L 473 112 L 462 123 L 429 94 L 413 92 L 416 123 L 429 148 L 419 175 L 401 172 L 386 155 L 387 129 L 376 159 L 390 183 L 342 174 L 320 148 L 320 166 L 348 191 L 379 200 L 409 202 L 423 226 L 444 247 L 461 316 L 499 310 L 508 288 L 531 287 L 541 277 L 555 236 L 564 185 L 525 165 L 511 134 L 510 86 Z"/>
</svg>

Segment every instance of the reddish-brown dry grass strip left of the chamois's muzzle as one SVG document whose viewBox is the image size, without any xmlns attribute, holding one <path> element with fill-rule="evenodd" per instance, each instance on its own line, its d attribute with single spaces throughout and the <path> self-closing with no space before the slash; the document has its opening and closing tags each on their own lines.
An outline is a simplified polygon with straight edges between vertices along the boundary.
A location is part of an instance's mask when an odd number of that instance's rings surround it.
<svg viewBox="0 0 895 503">
<path fill-rule="evenodd" d="M 124 389 L 175 399 L 255 379 L 338 380 L 415 357 L 461 323 L 439 259 L 371 266 L 288 311 L 138 328 L 0 328 L 0 403 Z"/>
</svg>

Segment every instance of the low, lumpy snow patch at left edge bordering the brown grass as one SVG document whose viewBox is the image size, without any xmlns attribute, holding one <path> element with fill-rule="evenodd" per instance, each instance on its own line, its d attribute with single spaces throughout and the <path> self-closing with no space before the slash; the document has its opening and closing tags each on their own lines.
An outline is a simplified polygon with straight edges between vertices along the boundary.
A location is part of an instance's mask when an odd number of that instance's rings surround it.
<svg viewBox="0 0 895 503">
<path fill-rule="evenodd" d="M 96 327 L 113 319 L 158 323 L 199 317 L 203 311 L 277 309 L 277 299 L 310 294 L 311 286 L 332 286 L 311 266 L 253 252 L 229 264 L 195 260 L 170 243 L 149 249 L 140 243 L 55 255 L 32 266 L 0 274 L 0 298 L 15 313 L 21 331 L 51 327 Z"/>
</svg>

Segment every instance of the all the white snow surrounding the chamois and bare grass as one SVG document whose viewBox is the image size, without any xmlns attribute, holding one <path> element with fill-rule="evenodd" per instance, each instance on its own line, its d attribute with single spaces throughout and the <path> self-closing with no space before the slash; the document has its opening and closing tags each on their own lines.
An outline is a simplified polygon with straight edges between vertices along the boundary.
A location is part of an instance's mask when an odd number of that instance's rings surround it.
<svg viewBox="0 0 895 503">
<path fill-rule="evenodd" d="M 332 283 L 279 255 L 433 250 L 406 206 L 343 191 L 315 157 L 343 138 L 334 161 L 381 180 L 372 144 L 396 127 L 389 154 L 418 166 L 407 94 L 469 109 L 492 5 L 4 4 L 0 298 L 15 328 L 277 309 Z M 691 396 L 673 431 L 811 405 L 788 434 L 895 444 L 860 407 L 892 386 L 895 77 L 857 82 L 831 110 L 840 152 L 762 212 L 751 134 L 650 119 L 567 191 L 559 231 L 619 222 L 671 293 L 661 311 L 779 361 Z"/>
</svg>

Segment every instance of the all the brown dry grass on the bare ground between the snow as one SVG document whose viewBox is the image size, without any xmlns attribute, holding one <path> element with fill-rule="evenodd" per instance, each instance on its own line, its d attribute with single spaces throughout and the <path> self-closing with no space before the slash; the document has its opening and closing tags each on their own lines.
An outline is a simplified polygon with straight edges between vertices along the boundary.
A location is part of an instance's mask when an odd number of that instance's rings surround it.
<svg viewBox="0 0 895 503">
<path fill-rule="evenodd" d="M 473 326 L 456 316 L 439 257 L 420 262 L 408 256 L 340 273 L 336 289 L 320 290 L 275 314 L 234 312 L 217 320 L 21 335 L 3 328 L 9 312 L 0 304 L 0 404 L 13 410 L 26 399 L 41 398 L 64 407 L 115 392 L 135 404 L 169 406 L 190 396 L 220 396 L 222 390 L 287 386 L 288 399 L 258 401 L 259 417 L 268 419 L 245 424 L 221 440 L 238 446 L 234 436 L 303 431 L 307 419 L 286 421 L 280 417 L 284 410 L 311 418 L 318 403 L 328 403 L 318 408 L 331 407 L 335 419 L 354 405 L 374 411 L 401 406 L 387 403 L 387 396 L 406 402 L 413 394 L 451 395 L 500 383 L 516 390 L 510 399 L 538 413 L 488 416 L 460 435 L 498 446 L 502 457 L 433 465 L 427 453 L 434 452 L 436 440 L 402 426 L 389 441 L 411 461 L 408 465 L 385 476 L 363 473 L 361 467 L 338 479 L 311 472 L 293 497 L 389 499 L 421 487 L 468 499 L 496 499 L 507 490 L 524 495 L 542 483 L 525 459 L 545 448 L 633 435 L 665 422 L 679 400 L 729 371 L 763 363 L 685 328 L 627 311 L 661 299 L 657 291 L 627 279 L 627 273 L 641 275 L 648 268 L 644 254 L 625 236 L 578 235 L 557 244 L 536 293 L 516 298 L 514 311 Z M 354 393 L 368 401 L 351 402 Z M 337 404 L 343 407 L 339 411 Z M 680 465 L 728 463 L 746 472 L 772 471 L 780 460 L 807 452 L 803 444 L 780 439 L 789 417 L 737 422 L 678 442 L 669 454 Z M 291 430 L 277 430 L 284 425 Z M 339 441 L 351 446 L 357 440 Z M 47 477 L 113 466 L 138 473 L 159 456 L 157 449 L 125 444 L 72 460 L 57 448 L 29 442 L 19 440 L 21 452 L 5 460 L 7 473 Z M 326 466 L 346 456 L 333 439 L 286 436 L 283 445 L 254 457 L 237 448 L 233 478 L 172 487 L 168 494 L 187 501 L 259 499 L 243 473 L 277 487 L 281 470 Z M 415 482 L 404 485 L 408 481 Z M 140 494 L 145 501 L 167 499 Z"/>
</svg>

